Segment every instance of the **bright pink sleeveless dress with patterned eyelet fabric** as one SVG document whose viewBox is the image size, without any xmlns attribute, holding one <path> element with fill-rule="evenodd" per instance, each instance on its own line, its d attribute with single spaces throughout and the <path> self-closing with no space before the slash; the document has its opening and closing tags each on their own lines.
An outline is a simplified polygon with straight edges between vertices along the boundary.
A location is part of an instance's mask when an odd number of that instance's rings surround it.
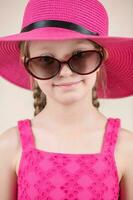
<svg viewBox="0 0 133 200">
<path fill-rule="evenodd" d="M 18 200 L 118 200 L 114 150 L 119 118 L 108 118 L 99 153 L 47 152 L 35 147 L 31 120 L 18 121 L 22 155 Z"/>
</svg>

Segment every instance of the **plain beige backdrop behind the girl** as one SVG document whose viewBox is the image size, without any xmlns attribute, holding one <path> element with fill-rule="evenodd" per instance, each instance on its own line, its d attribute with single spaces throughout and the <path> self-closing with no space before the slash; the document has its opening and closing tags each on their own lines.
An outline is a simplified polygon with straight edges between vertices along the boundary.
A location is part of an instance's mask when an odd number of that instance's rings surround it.
<svg viewBox="0 0 133 200">
<path fill-rule="evenodd" d="M 133 0 L 102 0 L 110 17 L 110 35 L 133 37 Z M 0 0 L 0 36 L 20 32 L 27 0 Z M 32 93 L 0 78 L 0 133 L 33 117 Z M 99 100 L 107 117 L 121 118 L 122 127 L 133 131 L 133 97 Z"/>
</svg>

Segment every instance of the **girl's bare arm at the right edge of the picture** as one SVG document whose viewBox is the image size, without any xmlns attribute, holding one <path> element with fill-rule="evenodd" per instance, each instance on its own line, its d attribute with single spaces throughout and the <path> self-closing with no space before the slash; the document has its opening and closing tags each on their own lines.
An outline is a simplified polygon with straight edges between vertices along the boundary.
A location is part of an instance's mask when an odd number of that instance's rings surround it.
<svg viewBox="0 0 133 200">
<path fill-rule="evenodd" d="M 125 171 L 120 182 L 120 200 L 133 200 L 133 133 L 123 129 L 123 135 Z"/>
</svg>

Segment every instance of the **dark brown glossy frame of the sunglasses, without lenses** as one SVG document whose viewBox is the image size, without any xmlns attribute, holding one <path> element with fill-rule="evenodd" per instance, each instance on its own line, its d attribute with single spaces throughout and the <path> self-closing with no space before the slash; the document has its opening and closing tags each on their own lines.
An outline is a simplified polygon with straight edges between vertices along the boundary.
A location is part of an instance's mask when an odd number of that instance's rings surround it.
<svg viewBox="0 0 133 200">
<path fill-rule="evenodd" d="M 77 56 L 78 54 L 80 54 L 80 53 L 85 53 L 85 52 L 97 52 L 97 53 L 99 54 L 99 56 L 100 56 L 100 62 L 99 62 L 99 64 L 98 64 L 98 66 L 97 66 L 93 71 L 91 71 L 91 72 L 89 72 L 89 73 L 84 73 L 84 74 L 82 74 L 82 73 L 79 73 L 79 72 L 75 71 L 75 70 L 72 68 L 72 66 L 70 65 L 70 61 L 71 61 L 71 59 L 72 59 L 74 56 Z M 29 70 L 29 68 L 28 68 L 28 63 L 29 63 L 31 60 L 36 59 L 36 58 L 42 58 L 42 57 L 52 58 L 52 59 L 56 60 L 56 61 L 59 63 L 59 70 L 58 70 L 53 76 L 51 76 L 50 78 L 39 78 L 38 76 L 36 76 L 35 74 L 33 74 L 33 73 Z M 28 57 L 25 56 L 25 57 L 24 57 L 24 66 L 25 66 L 26 70 L 27 70 L 34 78 L 39 79 L 39 80 L 48 80 L 48 79 L 51 79 L 51 78 L 55 77 L 55 76 L 60 72 L 60 70 L 61 70 L 61 65 L 62 65 L 62 64 L 65 64 L 65 63 L 66 63 L 66 64 L 69 66 L 69 68 L 70 68 L 73 72 L 75 72 L 75 73 L 77 73 L 77 74 L 80 74 L 80 75 L 88 75 L 88 74 L 91 74 L 91 73 L 95 72 L 95 71 L 101 66 L 103 60 L 104 60 L 104 51 L 103 51 L 103 48 L 100 47 L 99 49 L 94 49 L 94 50 L 79 51 L 78 53 L 72 55 L 67 61 L 64 61 L 64 62 L 61 62 L 60 60 L 58 60 L 57 58 L 54 58 L 54 57 L 52 57 L 52 56 L 37 56 L 37 57 L 32 57 L 32 58 L 28 58 Z"/>
</svg>

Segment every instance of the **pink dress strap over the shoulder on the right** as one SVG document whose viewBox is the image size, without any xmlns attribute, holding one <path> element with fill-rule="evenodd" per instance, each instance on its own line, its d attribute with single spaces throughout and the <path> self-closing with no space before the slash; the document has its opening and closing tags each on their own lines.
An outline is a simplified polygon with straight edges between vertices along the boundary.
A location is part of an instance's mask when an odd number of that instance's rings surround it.
<svg viewBox="0 0 133 200">
<path fill-rule="evenodd" d="M 104 135 L 103 152 L 114 154 L 121 120 L 119 118 L 108 118 L 108 124 Z"/>
</svg>

